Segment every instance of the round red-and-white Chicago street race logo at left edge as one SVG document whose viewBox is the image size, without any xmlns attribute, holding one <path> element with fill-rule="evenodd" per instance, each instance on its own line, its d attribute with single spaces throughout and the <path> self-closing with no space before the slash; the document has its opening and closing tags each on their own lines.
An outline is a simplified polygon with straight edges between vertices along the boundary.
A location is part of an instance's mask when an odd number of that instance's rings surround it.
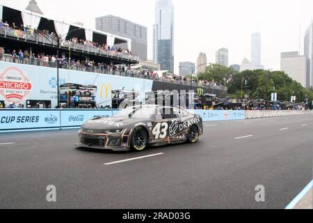
<svg viewBox="0 0 313 223">
<path fill-rule="evenodd" d="M 7 68 L 0 74 L 0 94 L 8 102 L 19 104 L 31 93 L 31 82 L 19 68 Z"/>
</svg>

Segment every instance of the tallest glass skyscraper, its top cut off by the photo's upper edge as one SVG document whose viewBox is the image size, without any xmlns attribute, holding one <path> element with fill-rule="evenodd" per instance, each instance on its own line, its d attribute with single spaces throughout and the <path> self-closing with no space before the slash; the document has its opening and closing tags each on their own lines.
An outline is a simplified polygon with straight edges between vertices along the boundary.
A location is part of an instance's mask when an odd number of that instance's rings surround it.
<svg viewBox="0 0 313 223">
<path fill-rule="evenodd" d="M 154 61 L 161 64 L 161 70 L 174 72 L 174 6 L 172 0 L 159 0 L 155 3 L 153 55 Z"/>
</svg>

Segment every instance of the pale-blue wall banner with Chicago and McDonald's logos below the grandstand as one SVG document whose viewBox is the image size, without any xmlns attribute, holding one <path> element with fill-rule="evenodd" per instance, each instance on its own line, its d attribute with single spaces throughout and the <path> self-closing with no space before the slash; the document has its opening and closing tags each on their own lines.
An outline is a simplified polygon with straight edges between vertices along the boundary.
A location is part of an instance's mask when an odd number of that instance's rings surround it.
<svg viewBox="0 0 313 223">
<path fill-rule="evenodd" d="M 88 84 L 97 86 L 96 102 L 111 105 L 112 93 L 116 90 L 137 91 L 138 100 L 145 101 L 145 93 L 152 91 L 152 80 L 116 75 L 102 75 L 77 70 L 59 70 L 61 84 Z M 6 105 L 14 102 L 26 107 L 26 100 L 50 100 L 51 108 L 57 105 L 56 68 L 29 66 L 0 62 L 0 100 Z"/>
</svg>

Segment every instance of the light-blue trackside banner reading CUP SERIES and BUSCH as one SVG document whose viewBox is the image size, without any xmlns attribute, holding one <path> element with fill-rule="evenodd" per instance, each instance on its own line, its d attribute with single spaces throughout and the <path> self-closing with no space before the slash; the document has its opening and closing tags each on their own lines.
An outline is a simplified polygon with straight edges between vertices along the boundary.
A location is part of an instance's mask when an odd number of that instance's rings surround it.
<svg viewBox="0 0 313 223">
<path fill-rule="evenodd" d="M 59 110 L 0 109 L 0 132 L 60 128 Z"/>
</svg>

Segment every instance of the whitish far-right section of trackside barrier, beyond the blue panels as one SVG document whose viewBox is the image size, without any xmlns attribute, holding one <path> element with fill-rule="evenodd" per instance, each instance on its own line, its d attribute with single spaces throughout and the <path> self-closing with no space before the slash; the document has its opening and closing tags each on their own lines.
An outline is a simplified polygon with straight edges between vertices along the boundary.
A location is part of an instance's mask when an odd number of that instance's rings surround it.
<svg viewBox="0 0 313 223">
<path fill-rule="evenodd" d="M 305 114 L 313 114 L 313 111 L 246 111 L 246 119 L 252 118 L 272 118 L 272 117 L 280 117 L 280 116 L 297 116 L 297 115 L 305 115 Z"/>
</svg>

